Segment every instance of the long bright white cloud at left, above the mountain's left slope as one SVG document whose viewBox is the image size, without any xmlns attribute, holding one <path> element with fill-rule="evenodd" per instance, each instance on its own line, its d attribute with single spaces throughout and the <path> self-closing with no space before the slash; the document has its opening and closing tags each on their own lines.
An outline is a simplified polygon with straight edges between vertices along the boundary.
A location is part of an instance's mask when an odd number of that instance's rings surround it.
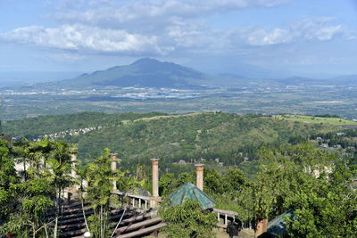
<svg viewBox="0 0 357 238">
<path fill-rule="evenodd" d="M 157 37 L 130 34 L 123 29 L 101 29 L 84 25 L 59 28 L 29 26 L 0 34 L 0 40 L 63 50 L 104 53 L 162 53 Z"/>
</svg>

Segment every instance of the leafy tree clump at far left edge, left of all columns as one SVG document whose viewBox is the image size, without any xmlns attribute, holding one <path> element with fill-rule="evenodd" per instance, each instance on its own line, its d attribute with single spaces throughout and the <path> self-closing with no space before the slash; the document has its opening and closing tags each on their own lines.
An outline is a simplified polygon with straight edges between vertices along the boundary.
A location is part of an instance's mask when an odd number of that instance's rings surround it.
<svg viewBox="0 0 357 238">
<path fill-rule="evenodd" d="M 73 183 L 71 145 L 47 139 L 1 141 L 0 152 L 0 232 L 57 237 L 61 193 Z M 16 173 L 16 160 L 23 165 L 22 175 Z M 46 217 L 49 211 L 54 216 Z"/>
</svg>

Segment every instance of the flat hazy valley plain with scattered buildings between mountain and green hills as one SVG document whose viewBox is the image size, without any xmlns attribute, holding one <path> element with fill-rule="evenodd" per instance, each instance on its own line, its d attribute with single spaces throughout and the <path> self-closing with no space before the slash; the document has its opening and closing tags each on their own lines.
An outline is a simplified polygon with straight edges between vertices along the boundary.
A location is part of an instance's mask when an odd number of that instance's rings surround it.
<svg viewBox="0 0 357 238">
<path fill-rule="evenodd" d="M 232 86 L 165 88 L 143 86 L 87 86 L 82 89 L 43 86 L 2 88 L 2 118 L 80 111 L 227 111 L 262 114 L 336 114 L 357 118 L 357 83 L 348 85 L 286 85 L 271 80 L 246 79 Z"/>
</svg>

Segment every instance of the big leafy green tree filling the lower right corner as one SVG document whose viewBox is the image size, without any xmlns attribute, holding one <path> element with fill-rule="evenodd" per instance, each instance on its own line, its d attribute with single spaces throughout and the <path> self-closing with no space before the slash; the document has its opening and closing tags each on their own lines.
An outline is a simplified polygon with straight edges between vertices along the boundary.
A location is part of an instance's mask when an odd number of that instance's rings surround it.
<svg viewBox="0 0 357 238">
<path fill-rule="evenodd" d="M 255 185 L 259 217 L 286 217 L 295 237 L 348 237 L 356 234 L 356 169 L 311 144 L 280 146 L 259 152 L 261 168 Z"/>
</svg>

